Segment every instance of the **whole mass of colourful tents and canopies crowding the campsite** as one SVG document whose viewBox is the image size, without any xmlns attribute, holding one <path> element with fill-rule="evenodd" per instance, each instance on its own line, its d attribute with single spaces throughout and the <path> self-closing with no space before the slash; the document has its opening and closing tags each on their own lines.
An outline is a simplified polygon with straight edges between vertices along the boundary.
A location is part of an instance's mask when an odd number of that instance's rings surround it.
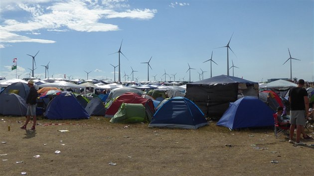
<svg viewBox="0 0 314 176">
<path fill-rule="evenodd" d="M 13 82 L 0 82 L 0 114 L 25 116 L 27 82 Z M 209 120 L 229 129 L 273 126 L 276 108 L 289 110 L 287 93 L 296 86 L 284 80 L 259 85 L 225 75 L 181 87 L 90 82 L 77 85 L 65 81 L 35 85 L 37 115 L 48 119 L 103 116 L 111 118 L 112 123 L 144 122 L 149 127 L 185 129 L 208 125 Z M 308 91 L 314 101 L 314 88 Z"/>
</svg>

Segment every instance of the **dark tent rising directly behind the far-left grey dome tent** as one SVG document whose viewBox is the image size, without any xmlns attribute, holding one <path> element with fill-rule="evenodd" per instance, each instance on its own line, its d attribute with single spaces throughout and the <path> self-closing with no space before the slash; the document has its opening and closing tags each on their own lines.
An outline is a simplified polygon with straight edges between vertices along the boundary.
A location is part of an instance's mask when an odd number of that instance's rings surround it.
<svg viewBox="0 0 314 176">
<path fill-rule="evenodd" d="M 13 83 L 7 86 L 1 93 L 15 93 L 22 97 L 25 101 L 29 92 L 29 87 L 27 83 Z"/>
</svg>

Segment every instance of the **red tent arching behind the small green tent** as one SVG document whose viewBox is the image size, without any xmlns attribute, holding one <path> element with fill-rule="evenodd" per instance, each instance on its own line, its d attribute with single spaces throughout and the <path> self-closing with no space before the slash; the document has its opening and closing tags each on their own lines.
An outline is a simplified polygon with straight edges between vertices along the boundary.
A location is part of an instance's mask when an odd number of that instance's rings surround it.
<svg viewBox="0 0 314 176">
<path fill-rule="evenodd" d="M 127 92 L 120 95 L 112 102 L 112 104 L 107 108 L 105 117 L 113 117 L 122 103 L 141 103 L 146 108 L 147 112 L 148 110 L 150 111 L 150 114 L 148 114 L 149 116 L 153 116 L 156 111 L 152 99 L 143 98 L 141 95 L 134 92 Z"/>
</svg>

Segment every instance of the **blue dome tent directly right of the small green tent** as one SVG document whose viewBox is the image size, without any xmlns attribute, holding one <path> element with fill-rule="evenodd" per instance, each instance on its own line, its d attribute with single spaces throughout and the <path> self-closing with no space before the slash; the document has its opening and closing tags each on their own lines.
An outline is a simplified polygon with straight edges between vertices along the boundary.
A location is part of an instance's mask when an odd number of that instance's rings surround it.
<svg viewBox="0 0 314 176">
<path fill-rule="evenodd" d="M 149 127 L 197 129 L 208 125 L 203 112 L 191 100 L 178 96 L 163 103 Z"/>
</svg>

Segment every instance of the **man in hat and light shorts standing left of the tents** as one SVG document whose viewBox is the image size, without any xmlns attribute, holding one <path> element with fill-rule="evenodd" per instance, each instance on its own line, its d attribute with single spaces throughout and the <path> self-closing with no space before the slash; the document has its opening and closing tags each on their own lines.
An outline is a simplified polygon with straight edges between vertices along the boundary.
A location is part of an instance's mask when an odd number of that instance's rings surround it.
<svg viewBox="0 0 314 176">
<path fill-rule="evenodd" d="M 33 116 L 33 127 L 31 127 L 30 130 L 35 130 L 36 126 L 36 98 L 37 98 L 37 90 L 34 88 L 34 82 L 32 80 L 29 80 L 27 83 L 27 86 L 30 88 L 29 93 L 26 98 L 26 104 L 27 106 L 27 112 L 26 112 L 26 121 L 23 126 L 21 126 L 21 129 L 26 130 L 26 125 L 28 124 L 30 120 L 30 116 Z"/>
</svg>

